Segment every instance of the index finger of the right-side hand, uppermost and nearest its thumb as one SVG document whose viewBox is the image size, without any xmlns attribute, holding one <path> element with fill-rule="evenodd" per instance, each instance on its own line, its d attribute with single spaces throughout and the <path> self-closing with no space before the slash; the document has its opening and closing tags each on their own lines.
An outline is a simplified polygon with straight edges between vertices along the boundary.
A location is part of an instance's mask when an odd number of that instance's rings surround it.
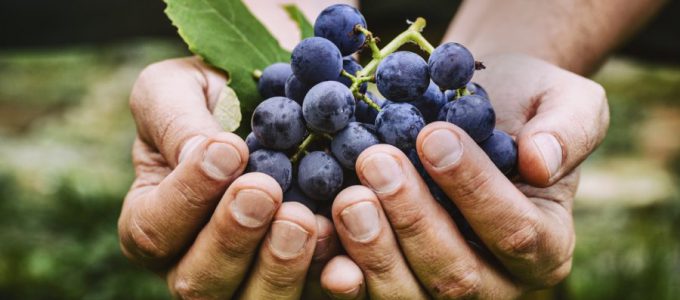
<svg viewBox="0 0 680 300">
<path fill-rule="evenodd" d="M 511 273 L 538 285 L 566 277 L 574 236 L 564 206 L 535 199 L 539 208 L 452 124 L 426 126 L 417 149 L 427 172 Z"/>
</svg>

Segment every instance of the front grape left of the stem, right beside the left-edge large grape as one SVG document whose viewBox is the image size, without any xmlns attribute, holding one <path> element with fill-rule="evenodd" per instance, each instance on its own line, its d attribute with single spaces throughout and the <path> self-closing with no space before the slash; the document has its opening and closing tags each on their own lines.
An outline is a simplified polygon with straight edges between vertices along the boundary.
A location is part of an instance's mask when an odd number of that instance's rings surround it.
<svg viewBox="0 0 680 300">
<path fill-rule="evenodd" d="M 354 116 L 354 96 L 337 81 L 315 85 L 302 102 L 302 114 L 309 128 L 334 133 L 349 123 Z"/>
</svg>

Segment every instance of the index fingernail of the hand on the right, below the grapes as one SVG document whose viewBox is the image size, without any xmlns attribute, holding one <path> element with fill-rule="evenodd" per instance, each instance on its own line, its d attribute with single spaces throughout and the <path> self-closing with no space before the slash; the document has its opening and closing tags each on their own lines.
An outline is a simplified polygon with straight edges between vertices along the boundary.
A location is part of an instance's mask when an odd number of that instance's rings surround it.
<svg viewBox="0 0 680 300">
<path fill-rule="evenodd" d="M 455 133 L 447 129 L 437 129 L 423 141 L 423 155 L 435 168 L 445 168 L 455 164 L 463 154 L 463 145 Z"/>
</svg>

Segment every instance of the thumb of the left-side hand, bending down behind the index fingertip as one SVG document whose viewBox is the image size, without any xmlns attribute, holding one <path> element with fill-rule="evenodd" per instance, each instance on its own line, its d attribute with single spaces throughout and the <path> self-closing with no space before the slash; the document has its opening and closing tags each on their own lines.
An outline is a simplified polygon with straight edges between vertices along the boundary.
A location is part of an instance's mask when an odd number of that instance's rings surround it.
<svg viewBox="0 0 680 300">
<path fill-rule="evenodd" d="M 141 139 L 175 167 L 188 141 L 222 132 L 208 107 L 225 86 L 224 75 L 197 58 L 167 60 L 148 66 L 130 95 L 130 108 Z M 195 144 L 194 144 L 195 145 Z"/>
</svg>

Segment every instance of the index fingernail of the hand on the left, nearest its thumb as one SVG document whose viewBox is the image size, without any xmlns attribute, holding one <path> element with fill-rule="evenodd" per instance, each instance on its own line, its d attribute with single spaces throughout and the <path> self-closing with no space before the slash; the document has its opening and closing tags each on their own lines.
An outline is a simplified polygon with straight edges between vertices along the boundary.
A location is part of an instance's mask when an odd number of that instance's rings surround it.
<svg viewBox="0 0 680 300">
<path fill-rule="evenodd" d="M 214 179 L 227 179 L 238 171 L 239 166 L 241 155 L 229 144 L 214 142 L 205 151 L 203 170 Z"/>
</svg>

